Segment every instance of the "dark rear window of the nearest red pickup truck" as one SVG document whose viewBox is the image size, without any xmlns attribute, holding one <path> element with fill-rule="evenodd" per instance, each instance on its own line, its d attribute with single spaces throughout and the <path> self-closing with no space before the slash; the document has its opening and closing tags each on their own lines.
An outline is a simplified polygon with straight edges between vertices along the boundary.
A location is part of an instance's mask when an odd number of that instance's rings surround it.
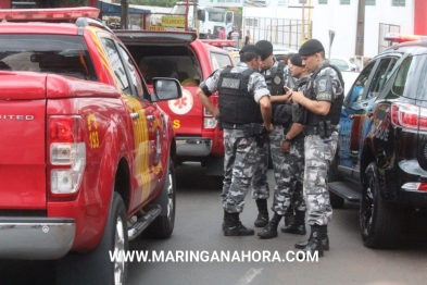
<svg viewBox="0 0 427 285">
<path fill-rule="evenodd" d="M 54 73 L 97 80 L 83 37 L 0 35 L 0 71 Z"/>
</svg>

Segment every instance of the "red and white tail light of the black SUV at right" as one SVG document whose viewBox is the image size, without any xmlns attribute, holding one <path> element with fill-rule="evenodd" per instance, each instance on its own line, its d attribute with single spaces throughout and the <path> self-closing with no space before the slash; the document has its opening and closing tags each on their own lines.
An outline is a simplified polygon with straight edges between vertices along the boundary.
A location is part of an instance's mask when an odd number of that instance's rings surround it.
<svg viewBox="0 0 427 285">
<path fill-rule="evenodd" d="M 414 104 L 392 103 L 391 123 L 412 131 L 427 131 L 427 109 Z"/>
</svg>

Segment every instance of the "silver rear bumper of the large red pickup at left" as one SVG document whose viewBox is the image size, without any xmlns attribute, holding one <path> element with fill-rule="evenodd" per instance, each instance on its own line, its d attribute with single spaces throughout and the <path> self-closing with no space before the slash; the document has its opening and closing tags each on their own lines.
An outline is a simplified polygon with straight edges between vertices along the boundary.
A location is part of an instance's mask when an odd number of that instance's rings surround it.
<svg viewBox="0 0 427 285">
<path fill-rule="evenodd" d="M 0 259 L 53 260 L 73 246 L 74 219 L 0 218 Z"/>
</svg>

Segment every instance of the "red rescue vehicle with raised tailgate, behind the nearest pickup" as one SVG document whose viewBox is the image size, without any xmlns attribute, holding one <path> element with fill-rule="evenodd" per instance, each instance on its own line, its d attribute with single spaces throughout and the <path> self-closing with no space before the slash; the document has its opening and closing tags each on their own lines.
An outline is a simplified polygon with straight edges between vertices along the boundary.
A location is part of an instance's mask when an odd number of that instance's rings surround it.
<svg viewBox="0 0 427 285">
<path fill-rule="evenodd" d="M 218 67 L 234 65 L 229 53 L 197 39 L 194 33 L 114 30 L 138 62 L 147 83 L 151 78 L 175 77 L 183 85 L 183 98 L 161 102 L 169 114 L 177 141 L 177 161 L 198 161 L 206 174 L 223 175 L 224 141 L 217 121 L 203 108 L 196 91 L 201 80 Z M 219 40 L 212 40 L 221 46 Z M 228 40 L 223 40 L 229 42 Z M 211 42 L 210 42 L 211 44 Z M 211 96 L 217 104 L 217 94 Z"/>
</svg>

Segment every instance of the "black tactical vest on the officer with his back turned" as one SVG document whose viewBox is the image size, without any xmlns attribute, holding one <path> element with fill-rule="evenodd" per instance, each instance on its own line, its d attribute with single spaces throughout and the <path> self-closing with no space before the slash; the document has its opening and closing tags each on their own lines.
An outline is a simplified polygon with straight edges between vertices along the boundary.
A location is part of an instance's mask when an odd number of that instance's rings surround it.
<svg viewBox="0 0 427 285">
<path fill-rule="evenodd" d="M 249 77 L 254 71 L 231 73 L 225 67 L 218 79 L 219 120 L 230 124 L 263 123 L 260 106 L 248 91 Z"/>
</svg>

